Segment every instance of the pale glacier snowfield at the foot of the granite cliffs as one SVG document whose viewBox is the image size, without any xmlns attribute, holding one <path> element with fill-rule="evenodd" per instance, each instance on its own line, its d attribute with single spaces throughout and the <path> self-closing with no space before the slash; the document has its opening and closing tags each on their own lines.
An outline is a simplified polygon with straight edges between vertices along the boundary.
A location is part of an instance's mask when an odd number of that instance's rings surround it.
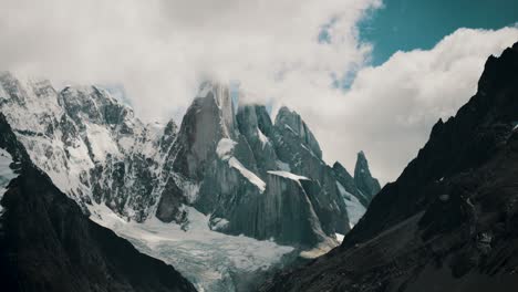
<svg viewBox="0 0 518 292">
<path fill-rule="evenodd" d="M 228 236 L 208 227 L 209 216 L 191 207 L 189 226 L 164 223 L 155 217 L 144 223 L 118 218 L 104 205 L 95 205 L 91 219 L 130 240 L 139 251 L 172 264 L 198 291 L 235 291 L 236 274 L 252 274 L 279 264 L 292 247 L 244 236 Z"/>
</svg>

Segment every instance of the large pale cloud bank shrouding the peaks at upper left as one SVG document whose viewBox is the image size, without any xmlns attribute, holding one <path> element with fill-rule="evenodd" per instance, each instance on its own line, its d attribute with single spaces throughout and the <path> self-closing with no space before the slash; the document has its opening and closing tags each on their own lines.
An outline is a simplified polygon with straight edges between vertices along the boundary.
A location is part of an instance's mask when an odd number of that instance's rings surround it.
<svg viewBox="0 0 518 292">
<path fill-rule="evenodd" d="M 0 0 L 0 67 L 55 83 L 122 83 L 141 117 L 166 118 L 204 79 L 239 80 L 260 101 L 298 93 L 292 83 L 328 87 L 369 56 L 356 23 L 380 4 Z"/>
</svg>

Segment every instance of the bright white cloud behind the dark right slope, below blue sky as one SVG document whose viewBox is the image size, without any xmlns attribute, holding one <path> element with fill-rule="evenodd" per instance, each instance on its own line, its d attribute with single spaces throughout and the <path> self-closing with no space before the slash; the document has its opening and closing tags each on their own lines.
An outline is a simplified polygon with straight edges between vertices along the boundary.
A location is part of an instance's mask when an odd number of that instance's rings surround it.
<svg viewBox="0 0 518 292">
<path fill-rule="evenodd" d="M 417 155 L 438 118 L 454 115 L 475 94 L 487 58 L 517 40 L 517 28 L 459 29 L 428 51 L 397 52 L 380 66 L 364 67 L 348 93 L 314 95 L 312 107 L 298 109 L 328 161 L 351 169 L 363 149 L 374 175 L 386 182 Z"/>
</svg>

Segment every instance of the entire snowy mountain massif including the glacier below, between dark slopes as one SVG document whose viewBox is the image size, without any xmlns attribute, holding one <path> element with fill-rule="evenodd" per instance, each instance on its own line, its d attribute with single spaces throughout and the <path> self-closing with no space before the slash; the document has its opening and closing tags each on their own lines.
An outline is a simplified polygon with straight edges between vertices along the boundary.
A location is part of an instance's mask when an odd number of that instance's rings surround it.
<svg viewBox="0 0 518 292">
<path fill-rule="evenodd" d="M 237 106 L 228 85 L 205 82 L 179 126 L 146 124 L 110 92 L 4 72 L 0 112 L 91 220 L 200 290 L 246 291 L 302 250 L 328 251 L 370 202 L 287 107 L 272 119 L 263 105 Z"/>
</svg>

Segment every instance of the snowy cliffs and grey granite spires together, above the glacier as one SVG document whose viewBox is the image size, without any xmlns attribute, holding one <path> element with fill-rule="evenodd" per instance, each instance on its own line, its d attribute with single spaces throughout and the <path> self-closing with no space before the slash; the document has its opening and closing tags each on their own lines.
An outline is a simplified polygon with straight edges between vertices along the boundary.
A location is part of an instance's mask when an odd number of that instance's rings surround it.
<svg viewBox="0 0 518 292">
<path fill-rule="evenodd" d="M 194 206 L 214 230 L 312 247 L 349 232 L 379 189 L 364 156 L 353 179 L 322 160 L 299 114 L 282 107 L 273 123 L 262 105 L 236 108 L 219 83 L 201 84 L 179 128 L 142 123 L 99 86 L 55 91 L 10 73 L 0 75 L 0 109 L 86 213 L 106 205 L 137 222 L 156 216 L 188 228 Z"/>
</svg>

